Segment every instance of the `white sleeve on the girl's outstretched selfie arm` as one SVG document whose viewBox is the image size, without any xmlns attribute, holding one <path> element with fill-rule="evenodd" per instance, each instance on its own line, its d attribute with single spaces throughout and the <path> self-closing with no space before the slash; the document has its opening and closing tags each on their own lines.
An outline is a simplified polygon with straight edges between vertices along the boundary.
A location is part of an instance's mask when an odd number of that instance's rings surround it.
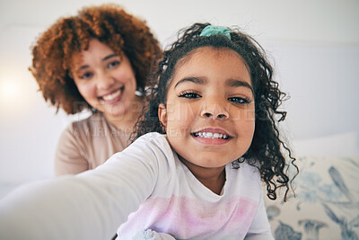
<svg viewBox="0 0 359 240">
<path fill-rule="evenodd" d="M 110 239 L 153 192 L 163 155 L 136 141 L 94 170 L 23 185 L 0 201 L 0 239 Z"/>
</svg>

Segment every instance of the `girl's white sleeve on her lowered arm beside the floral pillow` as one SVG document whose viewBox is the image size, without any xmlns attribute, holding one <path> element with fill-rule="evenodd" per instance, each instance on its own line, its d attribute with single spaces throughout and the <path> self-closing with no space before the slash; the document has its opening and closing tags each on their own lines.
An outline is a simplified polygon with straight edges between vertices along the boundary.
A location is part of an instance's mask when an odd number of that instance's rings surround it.
<svg viewBox="0 0 359 240">
<path fill-rule="evenodd" d="M 260 189 L 261 190 L 261 189 Z M 246 240 L 274 240 L 272 236 L 270 224 L 267 218 L 266 206 L 263 199 L 263 191 L 261 191 L 258 209 L 254 216 Z"/>
</svg>

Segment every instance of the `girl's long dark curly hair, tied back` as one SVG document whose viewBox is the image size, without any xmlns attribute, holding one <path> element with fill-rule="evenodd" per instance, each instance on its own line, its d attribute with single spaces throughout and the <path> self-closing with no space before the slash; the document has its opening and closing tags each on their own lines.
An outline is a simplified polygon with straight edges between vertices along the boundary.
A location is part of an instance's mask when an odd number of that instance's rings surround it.
<svg viewBox="0 0 359 240">
<path fill-rule="evenodd" d="M 136 124 L 135 138 L 151 131 L 165 134 L 158 118 L 158 106 L 166 102 L 168 86 L 171 84 L 176 65 L 181 59 L 186 58 L 193 50 L 206 46 L 215 49 L 232 49 L 239 53 L 247 63 L 255 93 L 256 111 L 256 127 L 250 148 L 232 165 L 238 168 L 239 163 L 245 159 L 252 165 L 259 165 L 261 178 L 267 184 L 267 197 L 276 200 L 276 190 L 285 187 L 286 200 L 287 193 L 291 189 L 291 181 L 286 173 L 288 164 L 282 153 L 283 148 L 289 155 L 290 164 L 293 164 L 296 173 L 299 169 L 294 164 L 295 158 L 291 150 L 279 138 L 277 128 L 277 122 L 285 120 L 286 111 L 278 110 L 284 101 L 285 93 L 279 90 L 278 84 L 272 79 L 273 69 L 265 57 L 264 50 L 256 40 L 238 30 L 231 31 L 231 40 L 218 34 L 209 37 L 199 36 L 207 25 L 210 23 L 195 23 L 188 29 L 180 31 L 179 40 L 174 42 L 170 49 L 164 51 L 158 70 L 152 75 L 154 87 L 148 94 L 149 103 L 144 109 L 144 116 Z"/>
</svg>

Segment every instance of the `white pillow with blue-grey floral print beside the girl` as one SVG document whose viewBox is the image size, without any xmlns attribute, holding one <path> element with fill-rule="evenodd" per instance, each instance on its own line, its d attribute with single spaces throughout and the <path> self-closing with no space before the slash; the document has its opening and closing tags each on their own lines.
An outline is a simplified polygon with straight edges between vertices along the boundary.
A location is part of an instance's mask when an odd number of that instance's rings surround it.
<svg viewBox="0 0 359 240">
<path fill-rule="evenodd" d="M 357 240 L 359 156 L 305 156 L 297 164 L 295 198 L 265 200 L 276 240 Z"/>
</svg>

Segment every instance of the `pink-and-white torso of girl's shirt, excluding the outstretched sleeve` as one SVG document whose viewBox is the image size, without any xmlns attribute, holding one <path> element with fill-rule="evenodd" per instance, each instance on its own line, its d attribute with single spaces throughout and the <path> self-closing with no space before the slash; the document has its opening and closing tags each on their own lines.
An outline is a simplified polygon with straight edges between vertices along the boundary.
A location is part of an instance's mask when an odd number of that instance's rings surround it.
<svg viewBox="0 0 359 240">
<path fill-rule="evenodd" d="M 154 139 L 156 147 L 150 151 L 162 152 L 145 161 L 155 162 L 157 176 L 151 194 L 118 228 L 119 239 L 130 239 L 146 229 L 176 239 L 243 239 L 250 234 L 270 233 L 256 167 L 243 163 L 233 169 L 232 164 L 227 164 L 226 182 L 222 194 L 217 195 L 180 162 L 164 136 L 144 138 Z"/>
</svg>

